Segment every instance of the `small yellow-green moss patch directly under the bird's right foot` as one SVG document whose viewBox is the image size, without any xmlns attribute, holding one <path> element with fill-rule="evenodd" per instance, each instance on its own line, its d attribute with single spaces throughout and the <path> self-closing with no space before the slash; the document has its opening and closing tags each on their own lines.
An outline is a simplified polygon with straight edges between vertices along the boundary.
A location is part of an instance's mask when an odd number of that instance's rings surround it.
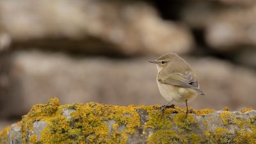
<svg viewBox="0 0 256 144">
<path fill-rule="evenodd" d="M 193 124 L 195 117 L 188 114 L 185 118 L 185 113 L 177 113 L 173 118 L 173 122 L 181 129 L 191 130 L 191 124 Z"/>
</svg>

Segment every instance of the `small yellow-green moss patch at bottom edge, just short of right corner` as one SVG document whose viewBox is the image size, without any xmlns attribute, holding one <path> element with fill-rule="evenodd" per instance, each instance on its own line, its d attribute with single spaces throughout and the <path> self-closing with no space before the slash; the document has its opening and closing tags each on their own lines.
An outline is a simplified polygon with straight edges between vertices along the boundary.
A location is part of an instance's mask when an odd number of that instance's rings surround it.
<svg viewBox="0 0 256 144">
<path fill-rule="evenodd" d="M 216 127 L 214 132 L 206 131 L 205 137 L 209 141 L 209 143 L 230 143 L 232 140 L 232 134 L 228 131 L 228 129 Z"/>
</svg>

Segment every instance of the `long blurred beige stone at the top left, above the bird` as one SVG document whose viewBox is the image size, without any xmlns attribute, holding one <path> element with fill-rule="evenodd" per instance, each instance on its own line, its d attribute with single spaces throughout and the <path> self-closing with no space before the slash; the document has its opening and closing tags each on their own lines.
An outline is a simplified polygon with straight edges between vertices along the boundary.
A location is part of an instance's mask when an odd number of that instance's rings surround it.
<svg viewBox="0 0 256 144">
<path fill-rule="evenodd" d="M 141 1 L 0 1 L 0 9 L 0 29 L 16 49 L 131 55 L 184 53 L 193 46 L 188 29 Z"/>
</svg>

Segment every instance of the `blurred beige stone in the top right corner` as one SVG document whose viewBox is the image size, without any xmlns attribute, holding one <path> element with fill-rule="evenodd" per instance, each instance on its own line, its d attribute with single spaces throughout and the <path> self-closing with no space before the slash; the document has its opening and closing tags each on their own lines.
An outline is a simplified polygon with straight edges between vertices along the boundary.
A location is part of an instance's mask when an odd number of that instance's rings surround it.
<svg viewBox="0 0 256 144">
<path fill-rule="evenodd" d="M 255 12 L 256 3 L 252 1 L 197 1 L 183 8 L 182 19 L 205 31 L 207 44 L 216 51 L 231 51 L 242 45 L 256 47 Z"/>
</svg>

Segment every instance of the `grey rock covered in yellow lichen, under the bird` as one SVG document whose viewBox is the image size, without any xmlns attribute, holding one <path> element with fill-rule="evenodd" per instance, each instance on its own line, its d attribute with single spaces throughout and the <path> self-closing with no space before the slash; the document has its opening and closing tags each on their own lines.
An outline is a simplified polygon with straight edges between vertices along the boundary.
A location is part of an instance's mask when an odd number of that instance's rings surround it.
<svg viewBox="0 0 256 144">
<path fill-rule="evenodd" d="M 0 132 L 0 143 L 255 143 L 256 111 L 161 106 L 37 104 L 21 123 Z M 21 126 L 20 126 L 21 124 Z M 21 131 L 20 131 L 21 129 Z M 20 137 L 21 136 L 21 137 Z"/>
</svg>

